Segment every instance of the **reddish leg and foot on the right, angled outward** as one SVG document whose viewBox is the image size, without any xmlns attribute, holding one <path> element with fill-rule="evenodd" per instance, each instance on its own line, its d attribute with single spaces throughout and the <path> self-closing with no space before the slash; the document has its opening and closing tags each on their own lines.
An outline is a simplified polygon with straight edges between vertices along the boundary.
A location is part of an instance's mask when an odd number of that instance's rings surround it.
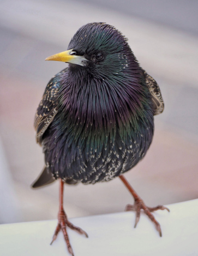
<svg viewBox="0 0 198 256">
<path fill-rule="evenodd" d="M 124 185 L 127 187 L 127 189 L 130 191 L 131 195 L 134 197 L 134 204 L 127 204 L 125 211 L 135 211 L 136 212 L 136 219 L 135 219 L 135 226 L 137 225 L 139 219 L 140 219 L 140 210 L 143 209 L 143 211 L 146 213 L 149 219 L 155 224 L 156 229 L 159 232 L 159 235 L 162 236 L 161 233 L 161 227 L 157 220 L 155 220 L 152 212 L 157 210 L 167 210 L 170 212 L 170 210 L 167 207 L 164 206 L 156 206 L 156 207 L 147 207 L 146 204 L 143 202 L 143 200 L 137 195 L 133 187 L 128 183 L 128 181 L 125 179 L 123 175 L 120 175 L 119 178 L 123 181 Z"/>
</svg>

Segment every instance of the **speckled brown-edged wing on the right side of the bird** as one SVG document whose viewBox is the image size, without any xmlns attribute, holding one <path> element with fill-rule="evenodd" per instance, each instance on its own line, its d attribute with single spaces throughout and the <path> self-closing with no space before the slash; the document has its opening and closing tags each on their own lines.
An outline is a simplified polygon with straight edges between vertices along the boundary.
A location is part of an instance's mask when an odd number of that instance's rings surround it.
<svg viewBox="0 0 198 256">
<path fill-rule="evenodd" d="M 152 96 L 154 115 L 158 115 L 164 110 L 164 101 L 161 96 L 161 92 L 157 82 L 153 79 L 153 77 L 149 76 L 145 70 L 144 73 L 146 78 L 146 84 Z"/>
</svg>

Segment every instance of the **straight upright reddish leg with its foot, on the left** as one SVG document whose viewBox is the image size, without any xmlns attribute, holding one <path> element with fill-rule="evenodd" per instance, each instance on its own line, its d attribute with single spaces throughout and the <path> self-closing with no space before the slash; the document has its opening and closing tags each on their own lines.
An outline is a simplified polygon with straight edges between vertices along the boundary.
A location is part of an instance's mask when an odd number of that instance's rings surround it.
<svg viewBox="0 0 198 256">
<path fill-rule="evenodd" d="M 74 256 L 73 249 L 71 248 L 71 244 L 69 242 L 69 236 L 68 236 L 68 233 L 67 233 L 67 226 L 70 227 L 70 229 L 76 230 L 77 232 L 79 232 L 79 234 L 84 234 L 86 237 L 88 237 L 88 235 L 80 227 L 74 226 L 68 220 L 67 215 L 65 214 L 64 208 L 63 208 L 63 189 L 64 189 L 64 181 L 62 181 L 62 179 L 60 179 L 58 224 L 56 226 L 55 234 L 53 235 L 52 242 L 50 244 L 52 244 L 53 241 L 56 240 L 58 232 L 60 230 L 62 230 L 65 242 L 67 243 L 68 251 L 71 255 Z"/>
</svg>

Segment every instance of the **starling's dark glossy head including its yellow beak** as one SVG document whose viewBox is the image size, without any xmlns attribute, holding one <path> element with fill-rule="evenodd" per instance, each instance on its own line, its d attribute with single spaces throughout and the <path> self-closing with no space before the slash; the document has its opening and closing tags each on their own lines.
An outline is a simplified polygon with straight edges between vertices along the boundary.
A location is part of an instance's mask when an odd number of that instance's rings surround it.
<svg viewBox="0 0 198 256">
<path fill-rule="evenodd" d="M 68 62 L 72 69 L 85 70 L 99 78 L 123 74 L 136 62 L 127 39 L 115 27 L 102 22 L 82 26 L 71 39 L 67 51 L 46 60 Z"/>
</svg>

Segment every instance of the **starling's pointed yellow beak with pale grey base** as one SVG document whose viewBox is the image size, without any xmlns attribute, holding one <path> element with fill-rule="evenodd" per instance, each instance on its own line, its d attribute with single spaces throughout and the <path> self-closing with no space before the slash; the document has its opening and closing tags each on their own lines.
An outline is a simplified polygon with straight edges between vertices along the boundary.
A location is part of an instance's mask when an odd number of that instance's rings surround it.
<svg viewBox="0 0 198 256">
<path fill-rule="evenodd" d="M 84 66 L 85 61 L 87 61 L 87 59 L 84 58 L 83 56 L 72 55 L 72 53 L 73 53 L 73 49 L 66 50 L 65 52 L 51 55 L 48 58 L 46 58 L 45 60 L 63 61 L 63 62 L 68 62 L 68 63 L 73 63 L 76 65 Z"/>
</svg>

